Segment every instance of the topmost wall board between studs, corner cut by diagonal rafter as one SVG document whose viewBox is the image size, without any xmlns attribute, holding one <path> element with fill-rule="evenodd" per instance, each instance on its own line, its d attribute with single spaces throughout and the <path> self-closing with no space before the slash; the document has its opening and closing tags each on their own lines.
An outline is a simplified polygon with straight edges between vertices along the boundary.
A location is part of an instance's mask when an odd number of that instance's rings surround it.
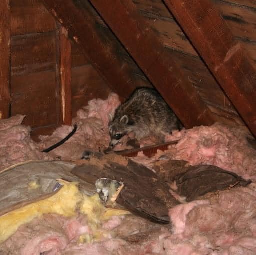
<svg viewBox="0 0 256 255">
<path fill-rule="evenodd" d="M 55 30 L 55 20 L 40 0 L 10 0 L 11 35 Z"/>
</svg>

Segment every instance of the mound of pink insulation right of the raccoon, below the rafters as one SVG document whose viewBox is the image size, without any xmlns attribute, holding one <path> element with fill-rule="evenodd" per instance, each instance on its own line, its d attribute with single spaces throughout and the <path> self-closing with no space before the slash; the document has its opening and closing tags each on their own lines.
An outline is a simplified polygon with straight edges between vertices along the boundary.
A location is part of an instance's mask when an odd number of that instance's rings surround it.
<svg viewBox="0 0 256 255">
<path fill-rule="evenodd" d="M 179 140 L 167 151 L 159 151 L 151 158 L 139 153 L 134 160 L 152 168 L 155 160 L 165 155 L 172 160 L 186 160 L 191 165 L 215 165 L 232 171 L 245 179 L 256 181 L 256 152 L 248 146 L 245 132 L 238 128 L 214 124 L 199 126 L 167 135 L 165 141 Z"/>
</svg>

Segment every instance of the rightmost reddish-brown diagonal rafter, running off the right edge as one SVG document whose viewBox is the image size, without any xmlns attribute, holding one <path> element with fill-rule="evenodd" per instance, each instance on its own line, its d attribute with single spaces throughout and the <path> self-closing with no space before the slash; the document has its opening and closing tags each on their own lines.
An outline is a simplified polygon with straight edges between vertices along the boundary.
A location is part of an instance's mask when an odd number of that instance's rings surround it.
<svg viewBox="0 0 256 255">
<path fill-rule="evenodd" d="M 164 0 L 251 132 L 256 135 L 256 70 L 210 0 Z"/>
</svg>

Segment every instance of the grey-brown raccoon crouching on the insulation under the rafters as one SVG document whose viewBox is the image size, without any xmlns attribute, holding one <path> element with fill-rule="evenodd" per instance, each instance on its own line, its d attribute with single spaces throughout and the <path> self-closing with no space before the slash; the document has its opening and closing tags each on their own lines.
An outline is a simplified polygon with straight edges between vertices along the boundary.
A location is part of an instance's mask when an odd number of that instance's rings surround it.
<svg viewBox="0 0 256 255">
<path fill-rule="evenodd" d="M 181 122 L 155 89 L 137 88 L 109 121 L 109 147 L 129 132 L 134 132 L 137 140 L 149 134 L 163 139 L 164 133 L 181 127 Z"/>
</svg>

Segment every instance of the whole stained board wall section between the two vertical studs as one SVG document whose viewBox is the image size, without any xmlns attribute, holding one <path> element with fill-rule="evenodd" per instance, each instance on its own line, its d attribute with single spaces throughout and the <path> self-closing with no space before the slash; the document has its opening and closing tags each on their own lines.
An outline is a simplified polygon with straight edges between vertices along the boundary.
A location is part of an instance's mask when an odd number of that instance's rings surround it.
<svg viewBox="0 0 256 255">
<path fill-rule="evenodd" d="M 11 114 L 32 128 L 55 125 L 56 24 L 40 0 L 10 0 Z"/>
</svg>

